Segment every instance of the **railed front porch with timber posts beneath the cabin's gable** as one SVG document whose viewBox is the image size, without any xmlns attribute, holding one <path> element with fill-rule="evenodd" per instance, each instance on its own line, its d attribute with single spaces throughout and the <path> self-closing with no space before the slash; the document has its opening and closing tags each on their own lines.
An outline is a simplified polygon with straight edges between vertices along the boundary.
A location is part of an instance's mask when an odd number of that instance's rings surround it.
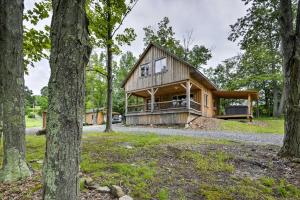
<svg viewBox="0 0 300 200">
<path fill-rule="evenodd" d="M 201 115 L 201 94 L 189 80 L 126 92 L 126 120 L 130 124 L 186 124 L 189 113 Z"/>
</svg>

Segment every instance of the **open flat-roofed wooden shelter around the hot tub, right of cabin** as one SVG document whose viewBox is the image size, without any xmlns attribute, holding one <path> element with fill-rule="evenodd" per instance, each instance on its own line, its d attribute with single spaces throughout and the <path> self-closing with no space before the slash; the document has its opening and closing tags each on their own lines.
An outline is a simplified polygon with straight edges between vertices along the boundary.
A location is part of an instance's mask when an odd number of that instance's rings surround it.
<svg viewBox="0 0 300 200">
<path fill-rule="evenodd" d="M 257 91 L 214 91 L 216 113 L 219 119 L 253 119 L 253 102 L 258 104 Z M 234 100 L 234 104 L 225 105 L 221 109 L 220 100 Z M 238 102 L 237 102 L 237 101 Z"/>
</svg>

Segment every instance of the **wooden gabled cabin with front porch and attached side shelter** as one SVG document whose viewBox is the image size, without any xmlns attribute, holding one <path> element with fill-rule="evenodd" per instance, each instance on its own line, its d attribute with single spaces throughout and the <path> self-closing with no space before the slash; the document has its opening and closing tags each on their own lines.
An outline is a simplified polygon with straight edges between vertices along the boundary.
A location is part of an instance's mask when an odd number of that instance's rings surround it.
<svg viewBox="0 0 300 200">
<path fill-rule="evenodd" d="M 252 119 L 255 91 L 220 91 L 195 67 L 151 43 L 123 82 L 129 125 L 185 125 L 199 116 L 218 117 L 220 98 L 247 99 L 247 109 L 227 118 Z M 139 99 L 139 100 L 135 100 Z"/>
</svg>

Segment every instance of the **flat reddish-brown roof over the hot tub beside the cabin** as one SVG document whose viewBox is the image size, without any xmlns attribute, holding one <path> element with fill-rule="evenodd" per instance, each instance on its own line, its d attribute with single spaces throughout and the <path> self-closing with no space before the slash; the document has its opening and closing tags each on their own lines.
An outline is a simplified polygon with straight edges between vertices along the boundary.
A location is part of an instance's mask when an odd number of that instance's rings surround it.
<svg viewBox="0 0 300 200">
<path fill-rule="evenodd" d="M 224 99 L 248 99 L 251 96 L 252 100 L 258 99 L 258 92 L 245 90 L 245 91 L 214 91 L 214 96 Z"/>
</svg>

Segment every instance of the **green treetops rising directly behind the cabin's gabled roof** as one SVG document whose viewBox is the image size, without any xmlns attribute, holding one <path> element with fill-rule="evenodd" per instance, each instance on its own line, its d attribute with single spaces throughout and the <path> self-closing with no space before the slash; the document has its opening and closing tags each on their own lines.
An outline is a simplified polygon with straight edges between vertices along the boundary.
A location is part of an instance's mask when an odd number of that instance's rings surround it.
<svg viewBox="0 0 300 200">
<path fill-rule="evenodd" d="M 186 60 L 195 68 L 201 69 L 201 65 L 205 65 L 212 56 L 210 50 L 203 45 L 195 45 L 189 50 L 190 41 L 184 42 L 185 46 L 183 46 L 181 42 L 175 38 L 175 32 L 169 23 L 169 18 L 164 17 L 162 21 L 158 23 L 157 31 L 151 26 L 145 27 L 145 46 L 148 46 L 151 42 L 158 44 L 176 56 Z M 190 39 L 191 38 L 187 38 L 187 40 Z"/>
</svg>

